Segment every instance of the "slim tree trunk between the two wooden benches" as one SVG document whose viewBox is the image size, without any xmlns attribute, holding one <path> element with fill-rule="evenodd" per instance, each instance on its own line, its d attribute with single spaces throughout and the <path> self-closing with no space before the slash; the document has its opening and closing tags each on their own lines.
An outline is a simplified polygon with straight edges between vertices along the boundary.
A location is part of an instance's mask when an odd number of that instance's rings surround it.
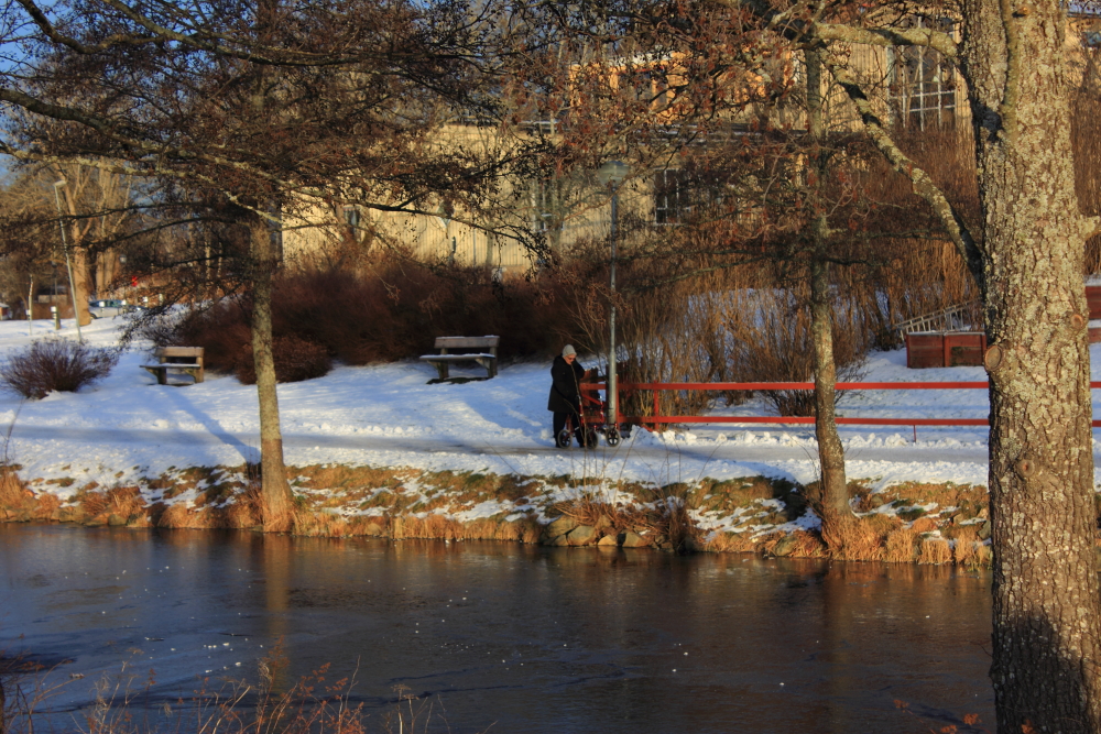
<svg viewBox="0 0 1101 734">
<path fill-rule="evenodd" d="M 261 514 L 264 529 L 284 532 L 294 522 L 293 495 L 283 463 L 283 431 L 275 392 L 272 355 L 272 281 L 279 269 L 279 248 L 268 222 L 257 215 L 249 220 L 252 245 L 252 357 L 260 398 Z"/>
</svg>

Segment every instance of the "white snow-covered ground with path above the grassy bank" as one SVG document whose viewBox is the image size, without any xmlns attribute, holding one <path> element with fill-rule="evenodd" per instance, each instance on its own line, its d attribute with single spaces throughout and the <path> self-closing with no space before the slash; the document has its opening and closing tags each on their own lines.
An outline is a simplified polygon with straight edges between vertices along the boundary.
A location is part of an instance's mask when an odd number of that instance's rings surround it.
<svg viewBox="0 0 1101 734">
<path fill-rule="evenodd" d="M 84 328 L 85 339 L 113 346 L 118 326 L 97 320 Z M 72 321 L 61 332 L 36 321 L 33 332 L 35 339 L 76 336 Z M 25 321 L 0 322 L 0 358 L 31 339 Z M 1094 380 L 1101 379 L 1098 349 L 1092 348 Z M 22 465 L 20 473 L 26 479 L 73 478 L 75 490 L 90 481 L 111 485 L 171 468 L 239 465 L 257 458 L 253 386 L 219 374 L 208 374 L 199 385 L 161 386 L 140 368 L 148 359 L 139 350 L 128 351 L 106 380 L 77 394 L 21 401 L 10 391 L 0 392 L 0 430 L 14 420 L 7 452 Z M 319 380 L 280 385 L 287 463 L 570 473 L 658 483 L 762 474 L 807 482 L 816 476 L 809 426 L 699 426 L 664 436 L 635 430 L 615 449 L 601 443 L 596 450 L 562 450 L 553 446 L 546 410 L 549 363 L 506 363 L 497 379 L 465 384 L 426 384 L 433 376 L 429 364 L 408 361 L 338 366 Z M 984 381 L 985 373 L 982 368 L 908 370 L 900 350 L 873 354 L 863 380 Z M 771 412 L 754 401 L 716 413 Z M 848 395 L 839 413 L 984 418 L 988 402 L 983 390 L 866 391 Z M 909 427 L 842 427 L 849 475 L 876 486 L 905 481 L 985 484 L 985 434 L 984 426 L 918 427 L 915 441 Z M 1101 448 L 1098 435 L 1094 451 Z M 65 487 L 54 486 L 66 494 Z"/>
</svg>

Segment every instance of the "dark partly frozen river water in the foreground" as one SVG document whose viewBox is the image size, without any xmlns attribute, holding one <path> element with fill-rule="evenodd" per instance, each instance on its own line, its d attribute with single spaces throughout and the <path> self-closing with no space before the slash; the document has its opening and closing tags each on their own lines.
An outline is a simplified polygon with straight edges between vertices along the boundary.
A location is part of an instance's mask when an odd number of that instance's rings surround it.
<svg viewBox="0 0 1101 734">
<path fill-rule="evenodd" d="M 330 664 L 373 716 L 404 690 L 455 733 L 993 727 L 984 573 L 10 524 L 0 559 L 0 649 L 56 666 L 55 721 L 123 667 L 151 711 L 255 681 L 282 639 L 286 679 Z"/>
</svg>

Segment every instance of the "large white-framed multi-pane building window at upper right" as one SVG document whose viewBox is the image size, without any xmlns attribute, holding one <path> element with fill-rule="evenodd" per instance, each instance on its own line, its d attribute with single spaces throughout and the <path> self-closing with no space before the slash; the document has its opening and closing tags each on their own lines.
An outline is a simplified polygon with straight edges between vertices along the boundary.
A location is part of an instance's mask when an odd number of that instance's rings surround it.
<svg viewBox="0 0 1101 734">
<path fill-rule="evenodd" d="M 935 29 L 952 33 L 947 19 L 912 18 L 911 28 Z M 956 70 L 940 55 L 926 46 L 890 48 L 889 99 L 895 118 L 905 127 L 925 130 L 956 119 Z"/>
</svg>

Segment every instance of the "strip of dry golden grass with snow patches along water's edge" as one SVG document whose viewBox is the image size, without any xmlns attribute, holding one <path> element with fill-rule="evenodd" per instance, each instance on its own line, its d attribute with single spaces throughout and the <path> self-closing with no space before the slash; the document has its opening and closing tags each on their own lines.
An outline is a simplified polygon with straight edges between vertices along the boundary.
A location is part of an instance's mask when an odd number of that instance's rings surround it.
<svg viewBox="0 0 1101 734">
<path fill-rule="evenodd" d="M 0 519 L 8 522 L 263 529 L 255 467 L 172 469 L 110 487 L 74 486 L 69 479 L 24 482 L 17 469 L 0 468 Z M 858 517 L 842 551 L 830 555 L 817 532 L 788 525 L 805 516 L 805 490 L 778 479 L 655 487 L 335 464 L 288 471 L 295 497 L 287 532 L 303 536 L 615 544 L 964 567 L 991 561 L 982 486 L 906 483 L 873 491 L 852 482 Z M 484 507 L 494 503 L 497 512 L 487 513 Z M 568 527 L 547 525 L 556 517 L 566 518 Z M 577 527 L 591 532 L 582 529 L 567 541 Z"/>
</svg>

